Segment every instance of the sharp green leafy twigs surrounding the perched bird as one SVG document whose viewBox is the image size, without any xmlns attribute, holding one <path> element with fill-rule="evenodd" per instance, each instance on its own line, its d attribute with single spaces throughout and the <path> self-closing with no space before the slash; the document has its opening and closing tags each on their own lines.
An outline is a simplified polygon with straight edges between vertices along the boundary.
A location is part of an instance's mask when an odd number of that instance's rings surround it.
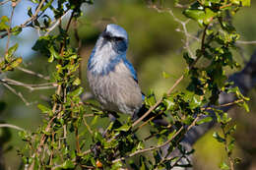
<svg viewBox="0 0 256 170">
<path fill-rule="evenodd" d="M 48 62 L 55 65 L 55 72 L 52 73 L 50 83 L 57 89 L 51 95 L 49 105 L 38 104 L 37 107 L 44 114 L 45 120 L 36 132 L 20 132 L 20 137 L 27 142 L 26 146 L 19 151 L 26 167 L 30 169 L 75 169 L 75 168 L 105 168 L 119 169 L 131 167 L 133 169 L 171 169 L 176 166 L 190 167 L 191 162 L 180 164 L 180 160 L 193 153 L 194 150 L 186 150 L 181 141 L 186 132 L 192 127 L 198 126 L 217 119 L 223 129 L 223 137 L 218 133 L 214 138 L 224 143 L 228 157 L 228 165 L 223 163 L 221 169 L 233 169 L 237 159 L 231 157 L 234 144 L 230 136 L 235 126 L 229 123 L 231 119 L 222 111 L 219 104 L 219 95 L 222 92 L 234 93 L 237 100 L 230 104 L 238 104 L 248 110 L 246 101 L 237 87 L 226 82 L 227 76 L 224 68 L 234 69 L 239 67 L 232 56 L 232 49 L 235 49 L 235 41 L 239 34 L 231 24 L 230 14 L 234 15 L 241 7 L 249 6 L 249 0 L 197 0 L 191 4 L 176 4 L 187 6 L 183 14 L 187 19 L 196 21 L 202 29 L 200 45 L 196 54 L 185 45 L 183 53 L 188 69 L 184 71 L 177 82 L 162 95 L 160 100 L 151 91 L 145 103 L 149 108 L 140 119 L 132 122 L 130 118 L 117 119 L 110 122 L 103 133 L 94 125 L 108 113 L 89 101 L 82 101 L 81 94 L 84 88 L 81 86 L 79 49 L 70 45 L 69 29 L 72 23 L 82 16 L 82 4 L 93 4 L 93 1 L 62 0 L 57 6 L 53 1 L 32 0 L 37 5 L 36 10 L 28 9 L 31 17 L 25 24 L 11 28 L 9 19 L 1 18 L 0 29 L 6 31 L 1 37 L 19 34 L 23 28 L 32 27 L 45 32 L 40 36 L 32 47 L 48 57 Z M 13 11 L 16 1 L 12 2 Z M 169 9 L 160 7 L 159 1 L 151 2 L 152 8 L 158 12 L 166 12 L 176 21 L 186 27 L 186 23 L 178 20 Z M 44 14 L 45 10 L 51 10 L 54 19 Z M 62 16 L 71 11 L 70 18 L 64 26 L 61 23 Z M 58 33 L 50 34 L 54 22 L 58 24 Z M 76 28 L 75 28 L 76 29 Z M 184 29 L 185 32 L 185 29 Z M 188 38 L 188 34 L 185 34 Z M 77 37 L 79 41 L 79 37 Z M 187 39 L 189 41 L 189 39 Z M 187 43 L 187 42 L 185 42 Z M 22 58 L 14 57 L 18 44 L 7 48 L 4 60 L 0 63 L 1 73 L 16 69 Z M 197 63 L 204 60 L 203 66 Z M 165 73 L 165 77 L 168 75 Z M 174 87 L 183 79 L 190 79 L 184 91 L 174 91 Z M 8 82 L 3 82 L 7 84 Z M 215 116 L 211 117 L 211 113 Z M 150 113 L 153 118 L 162 115 L 169 122 L 169 126 L 160 127 L 149 119 L 141 124 L 142 120 Z M 91 121 L 88 124 L 88 121 Z M 145 125 L 151 126 L 151 135 L 146 139 L 140 139 L 137 134 L 142 131 Z M 89 133 L 91 139 L 86 139 L 85 134 Z M 70 139 L 75 139 L 71 141 Z M 146 147 L 151 139 L 157 139 L 157 143 Z M 167 153 L 163 154 L 162 146 L 167 145 Z M 169 156 L 174 150 L 179 150 L 181 155 Z M 145 152 L 151 152 L 146 156 Z M 138 162 L 133 159 L 139 156 Z M 128 160 L 128 161 L 125 161 Z"/>
</svg>

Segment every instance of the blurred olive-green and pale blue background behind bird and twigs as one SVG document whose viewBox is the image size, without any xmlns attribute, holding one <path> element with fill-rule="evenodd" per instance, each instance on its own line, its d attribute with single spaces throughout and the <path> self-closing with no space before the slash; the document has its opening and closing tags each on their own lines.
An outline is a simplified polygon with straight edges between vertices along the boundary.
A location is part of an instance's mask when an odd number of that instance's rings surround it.
<svg viewBox="0 0 256 170">
<path fill-rule="evenodd" d="M 241 40 L 256 40 L 256 3 L 251 3 L 251 7 L 243 8 L 233 17 L 233 25 L 241 34 Z M 81 55 L 84 75 L 82 82 L 86 90 L 88 90 L 86 83 L 87 60 L 98 34 L 109 23 L 118 24 L 127 30 L 129 34 L 128 59 L 137 70 L 139 84 L 145 93 L 153 89 L 157 96 L 160 96 L 183 74 L 186 67 L 182 58 L 182 39 L 184 36 L 182 32 L 176 31 L 176 28 L 180 28 L 179 24 L 168 13 L 159 13 L 157 10 L 149 8 L 148 5 L 143 0 L 97 0 L 94 5 L 83 7 L 84 17 L 79 20 L 78 28 L 79 36 L 83 42 Z M 162 1 L 160 5 L 164 8 L 170 8 L 177 18 L 185 20 L 182 16 L 182 9 L 175 8 L 174 2 Z M 17 6 L 13 26 L 20 25 L 29 18 L 27 15 L 29 6 L 34 8 L 32 2 L 27 0 L 22 0 L 22 3 Z M 0 17 L 10 16 L 10 13 L 10 3 L 0 6 Z M 64 20 L 68 16 L 69 14 Z M 193 21 L 190 21 L 187 28 L 194 35 L 199 29 Z M 52 33 L 54 34 L 54 31 Z M 73 28 L 70 29 L 70 34 L 72 35 L 72 45 L 78 47 Z M 54 67 L 47 63 L 45 56 L 32 51 L 32 46 L 37 38 L 37 31 L 32 28 L 25 28 L 19 36 L 11 38 L 11 45 L 16 42 L 21 44 L 17 56 L 23 57 L 23 67 L 42 75 L 49 75 Z M 1 54 L 4 53 L 6 41 L 7 37 L 0 39 Z M 198 46 L 197 42 L 191 44 L 192 49 Z M 250 55 L 256 50 L 256 45 L 240 44 L 239 48 L 240 50 L 233 51 L 233 54 L 243 67 Z M 169 75 L 168 78 L 162 76 L 164 72 Z M 228 71 L 228 74 L 232 74 L 232 72 Z M 40 79 L 19 70 L 9 73 L 8 78 L 28 84 L 41 82 Z M 176 89 L 182 89 L 185 82 Z M 20 97 L 0 85 L 0 101 L 6 102 L 6 104 L 0 102 L 0 121 L 17 125 L 31 132 L 35 131 L 43 119 L 43 115 L 36 105 L 47 102 L 46 100 L 53 90 L 30 91 L 19 86 L 14 86 L 14 88 L 24 94 L 30 105 L 26 106 Z M 237 167 L 241 170 L 256 169 L 255 89 L 250 91 L 249 97 L 251 98 L 249 114 L 237 107 L 229 110 L 229 114 L 237 124 L 237 131 L 234 135 L 236 139 L 235 155 L 242 159 L 241 164 Z M 226 159 L 224 145 L 216 142 L 212 137 L 214 131 L 218 131 L 218 127 L 195 144 L 195 170 L 219 169 L 219 164 Z M 18 169 L 21 160 L 17 155 L 17 149 L 23 147 L 24 143 L 19 138 L 18 131 L 0 129 L 0 144 L 6 151 L 3 160 L 5 160 L 7 169 Z"/>
</svg>

